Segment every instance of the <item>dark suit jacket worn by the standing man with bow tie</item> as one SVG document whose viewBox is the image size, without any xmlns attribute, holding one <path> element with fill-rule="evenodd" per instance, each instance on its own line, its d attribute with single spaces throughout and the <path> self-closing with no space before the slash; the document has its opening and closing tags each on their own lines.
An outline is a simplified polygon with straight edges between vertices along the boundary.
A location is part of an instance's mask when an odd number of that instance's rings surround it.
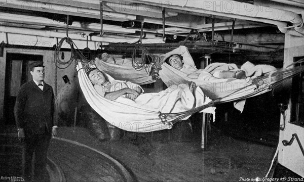
<svg viewBox="0 0 304 182">
<path fill-rule="evenodd" d="M 15 108 L 18 128 L 23 128 L 25 136 L 49 133 L 57 125 L 53 88 L 44 82 L 41 90 L 33 80 L 23 84 L 18 92 Z"/>
</svg>

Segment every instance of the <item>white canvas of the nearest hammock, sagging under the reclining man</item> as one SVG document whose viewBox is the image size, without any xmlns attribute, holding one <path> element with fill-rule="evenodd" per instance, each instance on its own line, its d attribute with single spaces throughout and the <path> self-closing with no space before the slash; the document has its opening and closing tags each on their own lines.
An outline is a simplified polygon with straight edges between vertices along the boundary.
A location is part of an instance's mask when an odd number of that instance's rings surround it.
<svg viewBox="0 0 304 182">
<path fill-rule="evenodd" d="M 77 66 L 77 69 L 79 70 L 79 83 L 86 100 L 106 121 L 121 129 L 135 132 L 170 129 L 173 123 L 178 120 L 187 119 L 191 116 L 191 113 L 187 113 L 187 111 L 179 113 L 159 113 L 156 110 L 142 109 L 132 106 L 132 102 L 129 102 L 129 99 L 122 97 L 119 97 L 115 101 L 105 99 L 96 92 L 86 74 L 86 70 L 81 68 L 82 65 L 79 64 Z M 109 75 L 107 75 L 107 77 L 109 80 L 113 80 Z M 208 100 L 202 98 L 200 101 L 197 101 L 197 104 L 198 102 L 201 103 L 200 105 L 203 105 L 203 103 L 207 103 Z M 203 111 L 205 108 L 209 108 L 212 105 L 213 104 L 210 103 L 209 105 L 201 107 L 200 111 Z M 204 112 L 213 113 L 214 110 L 204 110 Z"/>
</svg>

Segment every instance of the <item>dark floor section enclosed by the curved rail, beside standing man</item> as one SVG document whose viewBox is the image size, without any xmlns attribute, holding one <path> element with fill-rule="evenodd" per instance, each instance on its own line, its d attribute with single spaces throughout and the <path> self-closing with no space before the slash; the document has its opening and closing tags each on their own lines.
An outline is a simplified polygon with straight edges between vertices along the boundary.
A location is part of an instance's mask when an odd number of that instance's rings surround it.
<svg viewBox="0 0 304 182">
<path fill-rule="evenodd" d="M 123 176 L 99 153 L 52 140 L 49 157 L 63 170 L 67 181 L 123 181 Z"/>
</svg>

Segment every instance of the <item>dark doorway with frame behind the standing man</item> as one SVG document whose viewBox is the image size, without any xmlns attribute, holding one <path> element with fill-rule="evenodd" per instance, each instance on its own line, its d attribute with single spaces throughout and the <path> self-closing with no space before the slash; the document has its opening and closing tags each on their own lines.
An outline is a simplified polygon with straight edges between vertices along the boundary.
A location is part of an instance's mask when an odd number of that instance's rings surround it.
<svg viewBox="0 0 304 182">
<path fill-rule="evenodd" d="M 5 124 L 15 124 L 14 105 L 22 84 L 32 79 L 28 64 L 43 61 L 41 55 L 7 54 L 4 95 Z"/>
</svg>

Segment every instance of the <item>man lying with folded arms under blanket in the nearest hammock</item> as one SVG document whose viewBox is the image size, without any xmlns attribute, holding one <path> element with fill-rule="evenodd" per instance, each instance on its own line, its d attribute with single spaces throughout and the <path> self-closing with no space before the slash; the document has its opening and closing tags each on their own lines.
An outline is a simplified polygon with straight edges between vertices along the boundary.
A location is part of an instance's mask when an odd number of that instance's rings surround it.
<svg viewBox="0 0 304 182">
<path fill-rule="evenodd" d="M 141 94 L 143 89 L 139 85 L 119 80 L 109 81 L 98 69 L 92 69 L 87 74 L 96 92 L 102 97 L 142 109 L 175 113 L 188 111 L 211 101 L 194 82 L 189 85 L 171 85 L 159 93 Z"/>
</svg>

